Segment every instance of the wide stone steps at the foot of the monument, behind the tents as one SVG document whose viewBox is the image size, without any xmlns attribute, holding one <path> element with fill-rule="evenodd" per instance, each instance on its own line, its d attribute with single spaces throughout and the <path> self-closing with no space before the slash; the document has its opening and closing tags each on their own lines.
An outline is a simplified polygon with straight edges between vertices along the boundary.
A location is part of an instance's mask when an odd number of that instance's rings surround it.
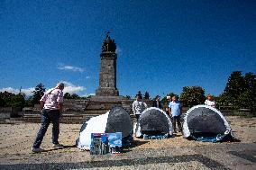
<svg viewBox="0 0 256 170">
<path fill-rule="evenodd" d="M 136 121 L 132 113 L 133 100 L 123 100 L 120 97 L 93 97 L 90 100 L 64 100 L 63 116 L 60 123 L 81 124 L 88 121 L 90 118 L 105 114 L 111 110 L 113 106 L 122 106 L 130 113 L 132 121 Z M 151 101 L 147 101 L 151 105 Z M 40 123 L 40 105 L 35 105 L 32 108 L 23 108 L 19 117 L 11 117 L 5 119 L 5 123 Z"/>
</svg>

